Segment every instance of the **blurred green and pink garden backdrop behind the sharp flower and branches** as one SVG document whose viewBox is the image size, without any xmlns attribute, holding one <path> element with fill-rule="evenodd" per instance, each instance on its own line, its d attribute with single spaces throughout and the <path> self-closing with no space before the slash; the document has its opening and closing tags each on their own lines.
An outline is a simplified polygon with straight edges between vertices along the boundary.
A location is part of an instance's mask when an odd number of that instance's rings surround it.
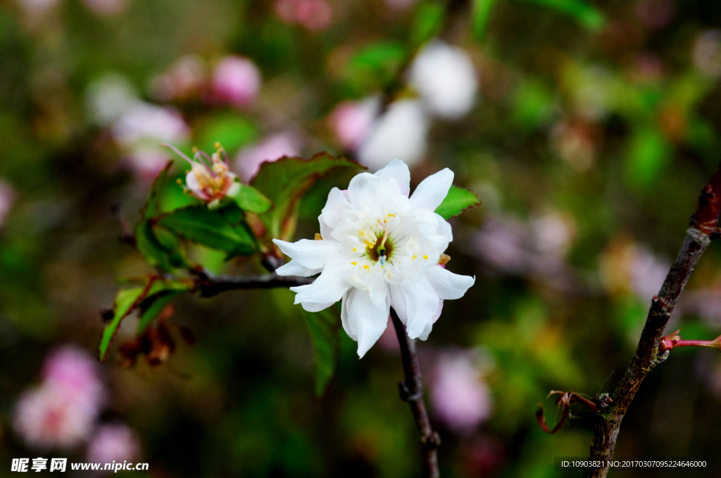
<svg viewBox="0 0 721 478">
<path fill-rule="evenodd" d="M 580 476 L 553 459 L 586 456 L 588 414 L 547 435 L 536 403 L 554 422 L 550 390 L 621 378 L 721 158 L 720 77 L 712 0 L 0 2 L 0 477 L 36 456 L 147 461 L 124 472 L 143 477 L 419 476 L 395 337 L 358 360 L 344 334 L 318 398 L 288 290 L 182 297 L 169 324 L 195 345 L 171 329 L 176 347 L 123 361 L 129 318 L 95 358 L 118 280 L 149 271 L 116 216 L 137 220 L 170 157 L 159 142 L 216 141 L 244 181 L 325 150 L 371 170 L 399 157 L 414 185 L 454 170 L 484 204 L 452 220 L 448 251 L 477 282 L 420 344 L 442 476 Z M 296 237 L 317 232 L 320 197 Z M 678 328 L 721 333 L 716 245 Z M 616 456 L 717 475 L 720 427 L 721 355 L 679 349 Z"/>
</svg>

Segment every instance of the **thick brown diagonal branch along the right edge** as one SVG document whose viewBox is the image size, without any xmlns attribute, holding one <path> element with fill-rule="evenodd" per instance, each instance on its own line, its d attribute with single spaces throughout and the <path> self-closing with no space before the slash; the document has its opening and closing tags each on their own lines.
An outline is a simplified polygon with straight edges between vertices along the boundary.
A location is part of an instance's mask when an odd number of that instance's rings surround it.
<svg viewBox="0 0 721 478">
<path fill-rule="evenodd" d="M 590 446 L 590 461 L 610 460 L 614 456 L 616 439 L 619 436 L 621 421 L 644 378 L 660 362 L 668 357 L 668 349 L 662 346 L 663 331 L 668 319 L 676 307 L 678 296 L 689 282 L 691 272 L 702 253 L 711 242 L 721 211 L 721 166 L 699 196 L 699 207 L 691 217 L 691 225 L 686 231 L 686 239 L 676 261 L 671 266 L 658 295 L 653 297 L 646 318 L 646 325 L 636 354 L 623 378 L 611 396 L 613 402 L 605 412 L 599 412 L 596 430 Z M 603 478 L 608 468 L 588 468 L 585 478 Z"/>
</svg>

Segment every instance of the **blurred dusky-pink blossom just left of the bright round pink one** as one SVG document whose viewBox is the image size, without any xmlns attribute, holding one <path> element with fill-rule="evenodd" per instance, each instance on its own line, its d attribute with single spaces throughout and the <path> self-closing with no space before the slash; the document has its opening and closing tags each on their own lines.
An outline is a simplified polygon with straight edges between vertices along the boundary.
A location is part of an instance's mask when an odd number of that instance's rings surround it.
<svg viewBox="0 0 721 478">
<path fill-rule="evenodd" d="M 197 95 L 207 80 L 203 58 L 182 56 L 167 71 L 152 79 L 151 95 L 159 101 L 183 99 Z"/>
</svg>

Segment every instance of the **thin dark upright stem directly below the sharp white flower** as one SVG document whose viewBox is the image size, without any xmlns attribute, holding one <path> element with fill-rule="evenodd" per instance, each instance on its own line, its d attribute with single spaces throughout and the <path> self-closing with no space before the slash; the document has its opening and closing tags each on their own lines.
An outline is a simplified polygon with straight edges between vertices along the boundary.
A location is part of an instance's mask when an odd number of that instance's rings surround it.
<svg viewBox="0 0 721 478">
<path fill-rule="evenodd" d="M 401 399 L 407 401 L 408 405 L 410 405 L 410 410 L 420 433 L 420 443 L 423 446 L 423 477 L 438 478 L 440 472 L 438 471 L 436 448 L 441 444 L 441 438 L 430 426 L 428 411 L 425 409 L 423 383 L 421 381 L 418 355 L 415 351 L 415 340 L 408 337 L 403 323 L 393 309 L 391 309 L 391 318 L 401 346 L 401 360 L 405 373 L 405 380 L 399 383 L 398 386 Z"/>
</svg>

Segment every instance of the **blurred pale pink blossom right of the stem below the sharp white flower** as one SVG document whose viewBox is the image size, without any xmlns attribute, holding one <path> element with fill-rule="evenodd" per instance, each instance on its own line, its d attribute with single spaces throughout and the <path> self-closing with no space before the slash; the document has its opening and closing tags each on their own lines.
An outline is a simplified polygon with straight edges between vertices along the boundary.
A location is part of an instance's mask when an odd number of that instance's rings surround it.
<svg viewBox="0 0 721 478">
<path fill-rule="evenodd" d="M 435 414 L 456 433 L 471 433 L 492 411 L 490 391 L 468 353 L 446 352 L 438 357 L 430 394 Z"/>
</svg>

